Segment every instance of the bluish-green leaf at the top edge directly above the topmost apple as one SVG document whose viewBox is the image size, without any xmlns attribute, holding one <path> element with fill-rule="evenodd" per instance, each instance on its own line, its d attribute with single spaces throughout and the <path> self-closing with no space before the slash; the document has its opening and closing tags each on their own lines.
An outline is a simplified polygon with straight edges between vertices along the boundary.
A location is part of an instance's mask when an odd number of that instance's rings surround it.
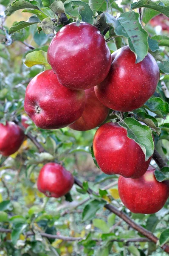
<svg viewBox="0 0 169 256">
<path fill-rule="evenodd" d="M 78 17 L 77 11 L 74 12 L 73 6 L 83 7 L 83 8 L 78 8 L 75 10 L 78 10 L 78 13 L 82 18 L 82 21 L 93 24 L 93 12 L 87 3 L 78 1 L 78 0 L 77 1 L 76 0 L 73 0 L 73 1 L 67 0 L 67 1 L 65 1 L 64 6 L 65 6 L 65 13 L 67 15 L 69 15 L 70 17 Z"/>
</svg>

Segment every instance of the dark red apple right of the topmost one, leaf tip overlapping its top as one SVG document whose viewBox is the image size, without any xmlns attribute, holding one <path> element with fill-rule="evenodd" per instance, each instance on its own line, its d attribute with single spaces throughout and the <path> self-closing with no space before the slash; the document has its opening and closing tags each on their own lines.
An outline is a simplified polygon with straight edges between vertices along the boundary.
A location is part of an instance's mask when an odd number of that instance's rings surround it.
<svg viewBox="0 0 169 256">
<path fill-rule="evenodd" d="M 112 54 L 112 65 L 106 79 L 95 87 L 99 101 L 116 111 L 140 108 L 155 93 L 160 72 L 148 53 L 135 63 L 135 54 L 128 46 Z"/>
</svg>

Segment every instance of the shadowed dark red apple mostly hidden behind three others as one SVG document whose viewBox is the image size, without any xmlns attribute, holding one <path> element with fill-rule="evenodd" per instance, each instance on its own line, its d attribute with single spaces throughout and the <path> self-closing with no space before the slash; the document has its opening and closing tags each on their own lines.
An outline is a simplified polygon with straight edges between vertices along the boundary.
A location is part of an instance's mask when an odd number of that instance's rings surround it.
<svg viewBox="0 0 169 256">
<path fill-rule="evenodd" d="M 88 131 L 101 125 L 109 113 L 109 108 L 97 99 L 94 88 L 85 90 L 86 103 L 82 116 L 69 127 L 76 131 Z"/>
</svg>

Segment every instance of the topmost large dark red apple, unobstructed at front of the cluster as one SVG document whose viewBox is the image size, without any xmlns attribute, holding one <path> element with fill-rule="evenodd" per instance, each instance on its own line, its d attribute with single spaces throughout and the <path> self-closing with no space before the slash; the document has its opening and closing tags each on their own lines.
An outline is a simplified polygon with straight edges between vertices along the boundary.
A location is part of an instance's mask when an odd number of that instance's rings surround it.
<svg viewBox="0 0 169 256">
<path fill-rule="evenodd" d="M 91 88 L 103 81 L 111 66 L 104 37 L 93 25 L 76 22 L 57 32 L 48 48 L 48 62 L 58 81 L 73 90 Z"/>
</svg>

